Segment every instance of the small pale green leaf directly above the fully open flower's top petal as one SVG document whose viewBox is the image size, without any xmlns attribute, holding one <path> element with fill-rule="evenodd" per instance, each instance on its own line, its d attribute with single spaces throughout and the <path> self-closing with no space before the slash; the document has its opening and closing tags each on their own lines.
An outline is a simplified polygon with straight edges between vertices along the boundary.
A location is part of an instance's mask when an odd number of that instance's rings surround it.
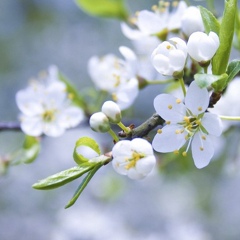
<svg viewBox="0 0 240 240">
<path fill-rule="evenodd" d="M 222 75 L 212 75 L 212 74 L 206 74 L 206 73 L 197 73 L 197 74 L 194 75 L 194 79 L 195 79 L 197 85 L 200 88 L 206 88 L 206 87 L 210 87 L 213 83 L 217 83 L 219 81 L 224 81 L 225 82 L 227 76 L 228 75 L 226 73 L 224 73 Z"/>
</svg>

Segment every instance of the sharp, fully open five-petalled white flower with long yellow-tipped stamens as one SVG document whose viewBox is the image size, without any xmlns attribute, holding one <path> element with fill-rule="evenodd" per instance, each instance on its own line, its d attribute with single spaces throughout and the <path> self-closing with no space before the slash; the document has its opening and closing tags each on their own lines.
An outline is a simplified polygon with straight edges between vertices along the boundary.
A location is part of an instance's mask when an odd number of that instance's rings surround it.
<svg viewBox="0 0 240 240">
<path fill-rule="evenodd" d="M 208 104 L 207 89 L 199 88 L 195 82 L 190 84 L 184 102 L 169 94 L 158 95 L 154 99 L 154 107 L 166 125 L 155 135 L 153 148 L 157 152 L 178 154 L 188 142 L 183 156 L 186 156 L 191 145 L 196 167 L 207 166 L 214 154 L 211 135 L 220 136 L 222 132 L 219 117 L 206 112 Z"/>
</svg>

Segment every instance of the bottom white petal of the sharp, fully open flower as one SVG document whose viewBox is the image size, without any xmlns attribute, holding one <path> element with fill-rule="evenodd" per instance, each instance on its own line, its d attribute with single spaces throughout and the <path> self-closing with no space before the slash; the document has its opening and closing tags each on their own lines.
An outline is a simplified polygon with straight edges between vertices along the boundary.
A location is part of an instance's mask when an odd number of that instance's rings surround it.
<svg viewBox="0 0 240 240">
<path fill-rule="evenodd" d="M 202 138 L 204 136 L 204 139 Z M 197 168 L 206 167 L 214 154 L 211 140 L 205 134 L 196 133 L 192 140 L 192 157 Z"/>
</svg>

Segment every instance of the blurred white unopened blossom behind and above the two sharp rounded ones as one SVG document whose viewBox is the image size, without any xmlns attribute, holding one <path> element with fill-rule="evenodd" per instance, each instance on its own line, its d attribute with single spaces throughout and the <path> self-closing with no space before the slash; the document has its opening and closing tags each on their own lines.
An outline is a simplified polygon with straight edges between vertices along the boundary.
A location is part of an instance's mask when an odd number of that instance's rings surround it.
<svg viewBox="0 0 240 240">
<path fill-rule="evenodd" d="M 181 18 L 181 30 L 189 37 L 194 32 L 203 32 L 204 25 L 199 8 L 190 6 Z"/>
</svg>

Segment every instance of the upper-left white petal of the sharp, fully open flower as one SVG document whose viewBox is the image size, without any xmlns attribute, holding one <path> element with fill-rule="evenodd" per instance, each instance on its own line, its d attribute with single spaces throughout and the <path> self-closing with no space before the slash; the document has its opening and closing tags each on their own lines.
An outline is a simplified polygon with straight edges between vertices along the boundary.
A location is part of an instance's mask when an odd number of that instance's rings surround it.
<svg viewBox="0 0 240 240">
<path fill-rule="evenodd" d="M 177 98 L 170 94 L 160 94 L 153 102 L 156 112 L 166 121 L 181 122 L 186 115 L 183 103 L 177 103 Z"/>
</svg>

